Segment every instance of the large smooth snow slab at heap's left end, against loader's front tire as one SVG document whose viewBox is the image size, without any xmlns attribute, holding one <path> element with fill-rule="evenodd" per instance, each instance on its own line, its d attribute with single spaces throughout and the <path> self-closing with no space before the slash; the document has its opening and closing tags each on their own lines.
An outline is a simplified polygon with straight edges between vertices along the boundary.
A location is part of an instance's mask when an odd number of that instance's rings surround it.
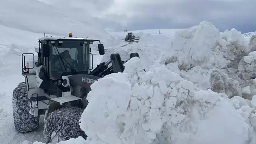
<svg viewBox="0 0 256 144">
<path fill-rule="evenodd" d="M 94 82 L 91 89 L 87 96 L 89 104 L 81 115 L 81 129 L 89 138 L 100 138 L 109 144 L 120 144 L 118 137 L 121 132 L 116 119 L 126 112 L 129 105 L 131 84 L 128 75 L 107 75 Z M 133 100 L 130 102 L 135 103 Z"/>
</svg>

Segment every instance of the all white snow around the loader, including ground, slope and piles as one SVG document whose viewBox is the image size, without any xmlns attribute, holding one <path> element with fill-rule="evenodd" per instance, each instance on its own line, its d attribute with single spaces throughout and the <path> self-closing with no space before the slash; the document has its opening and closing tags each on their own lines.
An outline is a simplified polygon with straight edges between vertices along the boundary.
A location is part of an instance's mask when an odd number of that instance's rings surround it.
<svg viewBox="0 0 256 144">
<path fill-rule="evenodd" d="M 23 81 L 20 55 L 35 52 L 44 33 L 69 32 L 102 40 L 108 50 L 93 56 L 94 65 L 111 53 L 126 60 L 138 52 L 140 59 L 91 86 L 80 120 L 87 141 L 60 144 L 256 144 L 255 32 L 219 32 L 201 22 L 160 34 L 132 31 L 140 42 L 128 44 L 122 40 L 127 32 L 107 32 L 93 18 L 81 17 L 49 0 L 0 2 L 0 144 L 44 143 L 44 117 L 35 132 L 14 128 L 12 91 Z"/>
</svg>

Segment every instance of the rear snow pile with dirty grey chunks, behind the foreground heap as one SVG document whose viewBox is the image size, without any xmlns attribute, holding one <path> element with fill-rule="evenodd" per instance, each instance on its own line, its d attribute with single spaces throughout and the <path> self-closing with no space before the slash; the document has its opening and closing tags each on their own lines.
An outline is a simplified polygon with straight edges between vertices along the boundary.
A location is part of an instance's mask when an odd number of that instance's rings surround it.
<svg viewBox="0 0 256 144">
<path fill-rule="evenodd" d="M 252 79 L 256 78 L 255 37 L 252 35 L 247 40 L 236 29 L 220 33 L 212 23 L 204 21 L 176 32 L 171 48 L 162 53 L 160 63 L 201 89 L 211 88 L 229 97 L 251 99 L 253 92 L 241 91 L 252 86 Z M 216 70 L 219 75 L 215 75 Z"/>
</svg>

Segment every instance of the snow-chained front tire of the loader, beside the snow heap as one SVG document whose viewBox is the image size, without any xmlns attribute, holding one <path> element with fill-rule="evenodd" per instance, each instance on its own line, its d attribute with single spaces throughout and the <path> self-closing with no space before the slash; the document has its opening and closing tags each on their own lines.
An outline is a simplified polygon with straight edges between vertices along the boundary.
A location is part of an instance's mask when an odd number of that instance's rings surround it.
<svg viewBox="0 0 256 144">
<path fill-rule="evenodd" d="M 64 107 L 50 112 L 44 120 L 45 142 L 57 143 L 79 136 L 86 139 L 87 135 L 79 126 L 83 111 L 84 109 L 79 107 Z"/>
</svg>

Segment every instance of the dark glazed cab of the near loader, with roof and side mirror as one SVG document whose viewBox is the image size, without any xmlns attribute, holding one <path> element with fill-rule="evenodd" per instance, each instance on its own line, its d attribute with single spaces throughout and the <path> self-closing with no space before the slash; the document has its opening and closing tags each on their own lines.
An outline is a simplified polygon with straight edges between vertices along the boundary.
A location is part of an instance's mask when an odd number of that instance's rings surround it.
<svg viewBox="0 0 256 144">
<path fill-rule="evenodd" d="M 38 39 L 37 66 L 42 66 L 48 78 L 61 78 L 64 75 L 88 74 L 93 70 L 93 55 L 90 45 L 99 41 L 99 54 L 104 55 L 100 40 L 69 37 L 42 37 Z"/>
</svg>

